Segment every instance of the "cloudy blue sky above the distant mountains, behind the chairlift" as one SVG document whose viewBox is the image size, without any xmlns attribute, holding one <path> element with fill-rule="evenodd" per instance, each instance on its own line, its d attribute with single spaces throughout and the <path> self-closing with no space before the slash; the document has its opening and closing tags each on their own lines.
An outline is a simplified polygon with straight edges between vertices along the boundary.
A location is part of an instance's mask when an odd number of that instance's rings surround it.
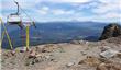
<svg viewBox="0 0 121 70">
<path fill-rule="evenodd" d="M 120 22 L 121 0 L 15 0 L 20 7 L 36 22 L 54 21 L 96 21 Z M 7 21 L 14 13 L 13 0 L 0 0 L 0 16 Z M 20 10 L 22 20 L 29 20 Z"/>
</svg>

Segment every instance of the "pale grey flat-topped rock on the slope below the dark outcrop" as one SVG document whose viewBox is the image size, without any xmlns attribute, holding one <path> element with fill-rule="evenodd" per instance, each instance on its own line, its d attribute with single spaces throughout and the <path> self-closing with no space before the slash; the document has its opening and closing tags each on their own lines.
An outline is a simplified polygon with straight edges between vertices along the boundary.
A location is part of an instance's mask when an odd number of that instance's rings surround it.
<svg viewBox="0 0 121 70">
<path fill-rule="evenodd" d="M 100 56 L 101 56 L 101 57 L 105 57 L 105 58 L 111 58 L 111 57 L 117 56 L 118 52 L 119 52 L 119 51 L 117 51 L 117 50 L 108 49 L 108 50 L 106 50 L 106 51 L 102 51 L 102 52 L 100 54 Z"/>
</svg>

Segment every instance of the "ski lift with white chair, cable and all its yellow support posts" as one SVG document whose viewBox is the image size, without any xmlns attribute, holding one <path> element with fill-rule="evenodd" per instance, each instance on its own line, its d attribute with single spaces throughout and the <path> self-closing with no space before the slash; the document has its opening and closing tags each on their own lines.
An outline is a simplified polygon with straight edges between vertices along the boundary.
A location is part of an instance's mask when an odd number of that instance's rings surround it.
<svg viewBox="0 0 121 70">
<path fill-rule="evenodd" d="M 13 0 L 14 1 L 14 0 Z M 29 44 L 30 44 L 30 26 L 31 25 L 33 25 L 35 28 L 36 28 L 36 25 L 35 25 L 35 23 L 32 21 L 32 19 L 25 13 L 25 11 L 19 5 L 19 2 L 16 2 L 16 1 L 14 1 L 14 3 L 18 5 L 18 11 L 16 11 L 16 13 L 12 13 L 12 14 L 10 14 L 8 18 L 7 18 L 7 23 L 9 24 L 9 25 L 18 25 L 20 28 L 21 28 L 21 31 L 23 30 L 23 27 L 25 27 L 25 32 L 26 32 L 26 50 L 29 49 Z M 22 21 L 22 19 L 20 18 L 20 9 L 23 11 L 23 13 L 30 19 L 30 22 L 26 22 L 26 23 L 23 23 L 23 21 Z M 4 34 L 7 34 L 8 32 L 7 32 L 7 28 L 6 28 L 6 26 L 4 26 L 4 24 L 3 24 L 3 27 L 4 27 L 4 32 L 6 33 L 3 33 L 2 34 L 2 36 L 4 36 Z M 9 36 L 9 34 L 7 34 L 8 36 Z M 8 38 L 10 42 L 9 42 L 9 44 L 10 44 L 10 46 L 11 46 L 11 49 L 13 48 L 12 47 L 12 43 L 11 43 L 11 39 L 10 39 L 10 37 Z M 2 42 L 2 40 L 1 40 Z M 1 43 L 2 44 L 2 43 Z"/>
</svg>

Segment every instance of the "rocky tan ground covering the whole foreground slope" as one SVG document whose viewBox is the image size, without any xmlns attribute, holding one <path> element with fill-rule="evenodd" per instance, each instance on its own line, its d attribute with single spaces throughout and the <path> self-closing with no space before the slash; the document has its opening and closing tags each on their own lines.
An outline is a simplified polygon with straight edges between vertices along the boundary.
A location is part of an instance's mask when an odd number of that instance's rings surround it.
<svg viewBox="0 0 121 70">
<path fill-rule="evenodd" d="M 105 54 L 105 51 L 113 50 Z M 101 42 L 73 40 L 2 49 L 1 70 L 121 70 L 121 36 Z"/>
</svg>

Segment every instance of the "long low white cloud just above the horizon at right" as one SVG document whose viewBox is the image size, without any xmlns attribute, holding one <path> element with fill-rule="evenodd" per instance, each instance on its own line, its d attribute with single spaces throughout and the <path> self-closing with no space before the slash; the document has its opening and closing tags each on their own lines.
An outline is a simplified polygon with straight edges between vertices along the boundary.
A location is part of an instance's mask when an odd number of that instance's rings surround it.
<svg viewBox="0 0 121 70">
<path fill-rule="evenodd" d="M 121 14 L 114 12 L 109 12 L 99 15 L 91 15 L 91 16 L 84 16 L 80 14 L 74 18 L 74 20 L 77 21 L 96 21 L 96 22 L 120 22 L 120 19 L 121 19 Z"/>
</svg>

